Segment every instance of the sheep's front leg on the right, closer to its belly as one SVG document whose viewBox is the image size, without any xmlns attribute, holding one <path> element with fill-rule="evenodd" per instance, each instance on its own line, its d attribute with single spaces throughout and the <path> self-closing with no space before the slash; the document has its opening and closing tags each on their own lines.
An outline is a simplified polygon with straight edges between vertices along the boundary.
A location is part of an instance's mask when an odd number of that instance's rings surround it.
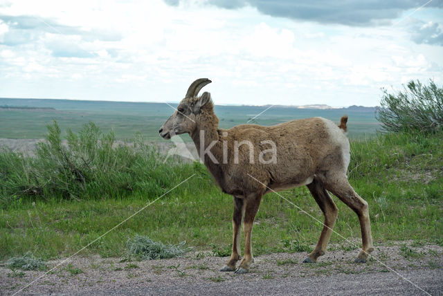
<svg viewBox="0 0 443 296">
<path fill-rule="evenodd" d="M 252 227 L 255 219 L 255 214 L 257 214 L 261 200 L 262 200 L 262 194 L 251 196 L 244 201 L 244 203 L 246 203 L 244 210 L 244 221 L 243 221 L 244 258 L 242 262 L 240 262 L 239 268 L 235 270 L 235 273 L 237 274 L 248 272 L 249 267 L 254 261 L 252 256 L 252 246 L 251 246 Z"/>
</svg>

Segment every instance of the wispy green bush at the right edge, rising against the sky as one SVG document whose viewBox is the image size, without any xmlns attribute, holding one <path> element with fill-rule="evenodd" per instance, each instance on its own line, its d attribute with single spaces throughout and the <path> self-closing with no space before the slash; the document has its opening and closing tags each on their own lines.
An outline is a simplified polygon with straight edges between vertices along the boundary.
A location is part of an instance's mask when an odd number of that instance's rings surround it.
<svg viewBox="0 0 443 296">
<path fill-rule="evenodd" d="M 382 131 L 435 132 L 443 130 L 443 88 L 431 80 L 423 85 L 413 80 L 395 94 L 383 89 L 381 108 L 375 117 Z"/>
</svg>

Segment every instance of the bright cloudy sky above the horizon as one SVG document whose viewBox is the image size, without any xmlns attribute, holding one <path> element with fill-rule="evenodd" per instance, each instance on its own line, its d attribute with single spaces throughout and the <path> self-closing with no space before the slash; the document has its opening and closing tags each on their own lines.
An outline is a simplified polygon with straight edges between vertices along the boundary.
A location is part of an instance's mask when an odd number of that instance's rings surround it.
<svg viewBox="0 0 443 296">
<path fill-rule="evenodd" d="M 376 106 L 443 84 L 443 0 L 0 0 L 0 97 Z"/>
</svg>

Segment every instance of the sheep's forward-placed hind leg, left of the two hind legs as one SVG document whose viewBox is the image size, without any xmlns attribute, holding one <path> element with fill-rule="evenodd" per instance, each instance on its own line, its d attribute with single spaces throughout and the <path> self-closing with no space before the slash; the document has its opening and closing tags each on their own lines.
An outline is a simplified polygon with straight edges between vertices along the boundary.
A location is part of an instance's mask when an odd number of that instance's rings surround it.
<svg viewBox="0 0 443 296">
<path fill-rule="evenodd" d="M 321 231 L 317 246 L 303 261 L 304 263 L 314 263 L 317 261 L 318 257 L 325 255 L 326 246 L 331 238 L 332 228 L 334 228 L 338 209 L 334 201 L 332 201 L 331 196 L 329 196 L 325 188 L 323 188 L 318 181 L 314 180 L 314 182 L 307 185 L 307 187 L 325 216 L 325 223 L 323 223 L 323 230 Z"/>
</svg>

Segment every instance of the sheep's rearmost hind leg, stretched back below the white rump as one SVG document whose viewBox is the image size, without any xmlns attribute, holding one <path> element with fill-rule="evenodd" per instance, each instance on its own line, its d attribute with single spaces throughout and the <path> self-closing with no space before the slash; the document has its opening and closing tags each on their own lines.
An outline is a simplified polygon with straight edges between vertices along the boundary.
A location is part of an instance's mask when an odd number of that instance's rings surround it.
<svg viewBox="0 0 443 296">
<path fill-rule="evenodd" d="M 372 245 L 368 203 L 361 198 L 359 194 L 356 194 L 345 175 L 333 176 L 332 178 L 329 178 L 329 180 L 334 180 L 335 182 L 325 182 L 326 189 L 340 198 L 343 203 L 350 207 L 356 212 L 357 216 L 359 216 L 361 241 L 363 242 L 363 246 L 359 256 L 355 259 L 355 262 L 365 263 L 370 252 L 374 250 L 374 246 Z"/>
</svg>

